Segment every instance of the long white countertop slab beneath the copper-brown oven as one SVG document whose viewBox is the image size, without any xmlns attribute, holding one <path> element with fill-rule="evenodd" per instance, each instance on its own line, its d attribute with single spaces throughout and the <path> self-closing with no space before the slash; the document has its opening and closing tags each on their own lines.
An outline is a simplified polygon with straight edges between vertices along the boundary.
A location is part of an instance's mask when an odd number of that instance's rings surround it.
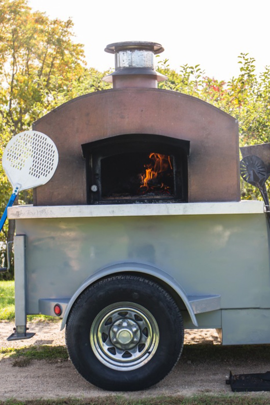
<svg viewBox="0 0 270 405">
<path fill-rule="evenodd" d="M 264 213 L 264 203 L 262 201 L 177 204 L 59 205 L 46 207 L 15 205 L 8 208 L 8 218 L 10 220 L 28 218 L 136 217 L 154 215 L 262 213 Z"/>
</svg>

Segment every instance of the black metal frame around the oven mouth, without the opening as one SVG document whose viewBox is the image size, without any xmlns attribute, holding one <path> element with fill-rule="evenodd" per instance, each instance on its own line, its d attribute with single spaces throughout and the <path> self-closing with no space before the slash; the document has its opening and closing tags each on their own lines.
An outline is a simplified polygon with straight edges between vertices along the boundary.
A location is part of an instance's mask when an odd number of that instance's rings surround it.
<svg viewBox="0 0 270 405">
<path fill-rule="evenodd" d="M 87 204 L 186 203 L 190 141 L 157 134 L 121 134 L 81 145 L 86 161 Z M 102 196 L 102 160 L 127 153 L 161 153 L 173 160 L 174 192 L 169 196 Z"/>
</svg>

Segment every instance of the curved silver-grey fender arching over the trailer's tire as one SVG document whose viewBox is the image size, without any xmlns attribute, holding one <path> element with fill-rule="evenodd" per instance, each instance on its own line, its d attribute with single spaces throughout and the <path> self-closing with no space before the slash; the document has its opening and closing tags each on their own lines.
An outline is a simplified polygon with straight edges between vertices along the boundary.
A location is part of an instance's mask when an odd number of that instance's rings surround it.
<svg viewBox="0 0 270 405">
<path fill-rule="evenodd" d="M 79 295 L 91 284 L 98 281 L 101 278 L 104 278 L 109 275 L 117 274 L 117 273 L 126 273 L 126 272 L 134 272 L 134 273 L 145 273 L 149 275 L 153 275 L 154 277 L 164 281 L 170 287 L 172 287 L 176 293 L 182 298 L 183 303 L 185 304 L 187 311 L 189 312 L 190 318 L 192 323 L 198 327 L 198 322 L 196 320 L 195 312 L 189 302 L 189 298 L 185 292 L 185 290 L 181 287 L 181 285 L 168 273 L 165 271 L 158 269 L 157 267 L 151 266 L 149 264 L 141 264 L 141 263 L 120 263 L 120 264 L 113 264 L 108 267 L 104 267 L 103 269 L 97 271 L 93 275 L 91 275 L 88 279 L 86 279 L 83 284 L 78 288 L 78 290 L 73 294 L 70 298 L 70 301 L 66 307 L 66 311 L 63 316 L 61 330 L 64 329 L 66 325 L 66 321 L 68 318 L 68 314 L 72 305 L 79 297 Z"/>
</svg>

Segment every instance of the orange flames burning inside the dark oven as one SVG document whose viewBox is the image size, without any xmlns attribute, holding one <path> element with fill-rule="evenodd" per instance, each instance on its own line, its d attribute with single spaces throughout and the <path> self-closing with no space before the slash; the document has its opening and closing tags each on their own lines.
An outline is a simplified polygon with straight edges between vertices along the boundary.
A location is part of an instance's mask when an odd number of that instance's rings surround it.
<svg viewBox="0 0 270 405">
<path fill-rule="evenodd" d="M 140 174 L 140 188 L 143 188 L 143 192 L 156 189 L 169 192 L 170 187 L 164 185 L 162 181 L 161 173 L 172 171 L 172 164 L 170 162 L 170 156 L 162 155 L 160 153 L 150 153 L 149 158 L 151 163 L 145 164 L 145 173 Z"/>
</svg>

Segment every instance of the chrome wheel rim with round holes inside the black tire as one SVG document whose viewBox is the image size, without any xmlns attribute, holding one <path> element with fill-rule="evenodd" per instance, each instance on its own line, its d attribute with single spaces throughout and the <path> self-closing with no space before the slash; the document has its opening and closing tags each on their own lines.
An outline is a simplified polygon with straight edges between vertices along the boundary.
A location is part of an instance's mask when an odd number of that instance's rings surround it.
<svg viewBox="0 0 270 405">
<path fill-rule="evenodd" d="M 104 308 L 94 319 L 90 343 L 107 367 L 129 371 L 149 362 L 157 350 L 159 330 L 153 315 L 141 305 L 119 302 Z"/>
</svg>

